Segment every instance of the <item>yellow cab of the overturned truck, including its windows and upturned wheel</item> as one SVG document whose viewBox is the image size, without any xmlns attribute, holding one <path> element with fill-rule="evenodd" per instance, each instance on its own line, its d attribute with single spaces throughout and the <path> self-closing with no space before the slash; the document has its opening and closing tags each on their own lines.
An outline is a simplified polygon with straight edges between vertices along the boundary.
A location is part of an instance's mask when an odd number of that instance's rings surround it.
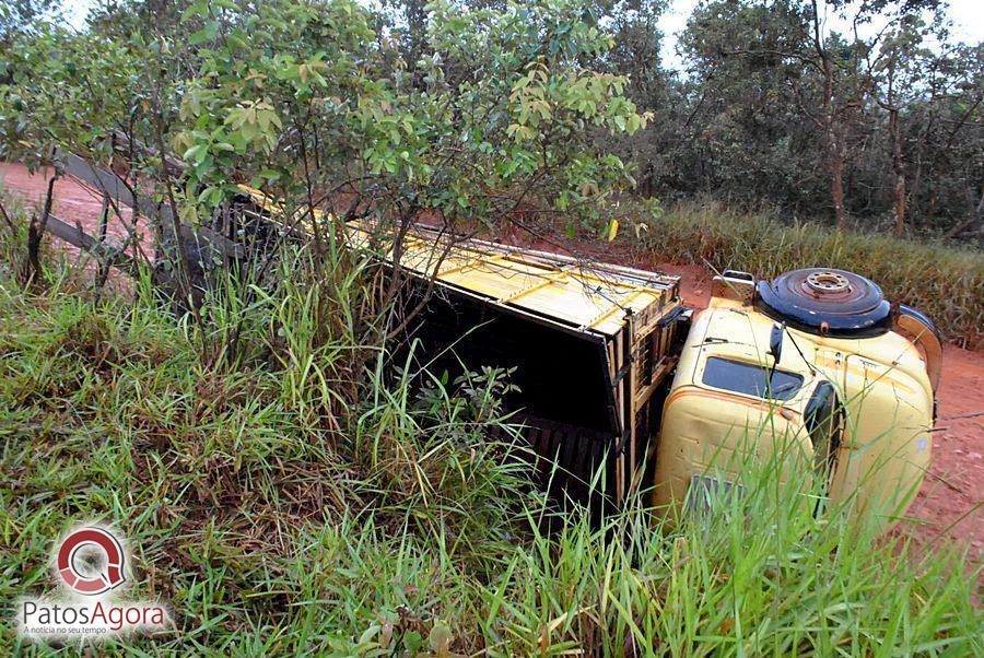
<svg viewBox="0 0 984 658">
<path fill-rule="evenodd" d="M 816 468 L 832 503 L 856 492 L 853 513 L 877 507 L 889 527 L 929 463 L 939 357 L 927 318 L 851 272 L 715 278 L 666 397 L 655 503 L 679 514 L 691 487 L 780 455 L 784 478 Z"/>
</svg>

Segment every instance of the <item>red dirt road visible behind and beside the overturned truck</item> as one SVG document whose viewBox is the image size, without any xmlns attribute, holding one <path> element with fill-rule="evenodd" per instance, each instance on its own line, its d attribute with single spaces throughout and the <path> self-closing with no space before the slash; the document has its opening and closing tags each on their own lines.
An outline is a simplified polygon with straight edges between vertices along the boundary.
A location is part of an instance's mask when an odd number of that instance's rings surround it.
<svg viewBox="0 0 984 658">
<path fill-rule="evenodd" d="M 50 175 L 50 172 L 47 172 Z M 0 163 L 0 188 L 20 196 L 25 204 L 43 199 L 46 178 L 28 175 L 21 165 Z M 95 233 L 101 202 L 98 196 L 73 180 L 55 185 L 54 214 L 69 223 L 79 222 Z M 122 240 L 126 230 L 110 222 L 109 234 Z M 504 242 L 527 242 L 514 235 Z M 535 245 L 554 250 L 558 245 Z M 582 250 L 584 245 L 578 245 Z M 612 247 L 612 248 L 608 248 Z M 591 254 L 614 262 L 656 269 L 682 277 L 684 301 L 704 307 L 711 296 L 710 275 L 698 266 L 653 262 L 644 254 L 619 246 L 591 245 Z M 971 554 L 984 553 L 984 353 L 947 345 L 944 351 L 942 383 L 939 389 L 938 431 L 934 433 L 933 465 L 909 514 L 916 540 L 929 545 L 940 536 L 969 542 Z M 904 530 L 903 530 L 904 531 Z"/>
</svg>

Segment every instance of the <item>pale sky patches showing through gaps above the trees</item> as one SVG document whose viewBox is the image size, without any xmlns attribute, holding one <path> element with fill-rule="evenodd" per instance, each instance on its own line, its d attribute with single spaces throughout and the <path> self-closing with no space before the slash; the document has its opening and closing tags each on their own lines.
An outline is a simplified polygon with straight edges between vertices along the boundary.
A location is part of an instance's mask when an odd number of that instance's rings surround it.
<svg viewBox="0 0 984 658">
<path fill-rule="evenodd" d="M 670 0 L 669 9 L 659 20 L 659 26 L 666 35 L 663 61 L 670 68 L 682 66 L 676 52 L 677 35 L 687 26 L 687 19 L 698 2 L 699 0 Z M 96 0 L 65 0 L 66 17 L 72 25 L 81 27 L 94 4 Z M 956 40 L 971 44 L 984 40 L 984 0 L 950 0 L 948 14 L 953 22 L 952 35 Z M 831 27 L 846 28 L 846 25 L 839 26 L 837 23 L 834 17 Z"/>
</svg>

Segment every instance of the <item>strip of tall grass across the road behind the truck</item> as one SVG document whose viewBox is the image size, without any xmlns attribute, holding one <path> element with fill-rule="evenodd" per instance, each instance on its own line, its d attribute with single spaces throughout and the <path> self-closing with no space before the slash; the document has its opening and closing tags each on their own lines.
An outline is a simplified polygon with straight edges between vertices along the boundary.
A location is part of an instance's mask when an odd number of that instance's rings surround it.
<svg viewBox="0 0 984 658">
<path fill-rule="evenodd" d="M 775 213 L 749 214 L 717 203 L 682 204 L 665 213 L 637 209 L 637 244 L 660 260 L 710 265 L 774 277 L 804 267 L 851 270 L 877 282 L 889 299 L 928 314 L 950 340 L 984 344 L 984 255 L 944 243 L 899 239 Z M 630 239 L 635 240 L 634 236 Z"/>
</svg>

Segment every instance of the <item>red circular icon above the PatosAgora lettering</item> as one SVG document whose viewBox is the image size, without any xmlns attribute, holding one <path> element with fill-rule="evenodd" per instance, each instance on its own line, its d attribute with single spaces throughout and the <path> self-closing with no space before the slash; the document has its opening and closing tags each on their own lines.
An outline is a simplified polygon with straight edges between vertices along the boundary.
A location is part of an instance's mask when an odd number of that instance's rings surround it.
<svg viewBox="0 0 984 658">
<path fill-rule="evenodd" d="M 122 547 L 102 528 L 80 528 L 66 537 L 57 566 L 65 584 L 79 594 L 103 594 L 126 580 Z"/>
</svg>

